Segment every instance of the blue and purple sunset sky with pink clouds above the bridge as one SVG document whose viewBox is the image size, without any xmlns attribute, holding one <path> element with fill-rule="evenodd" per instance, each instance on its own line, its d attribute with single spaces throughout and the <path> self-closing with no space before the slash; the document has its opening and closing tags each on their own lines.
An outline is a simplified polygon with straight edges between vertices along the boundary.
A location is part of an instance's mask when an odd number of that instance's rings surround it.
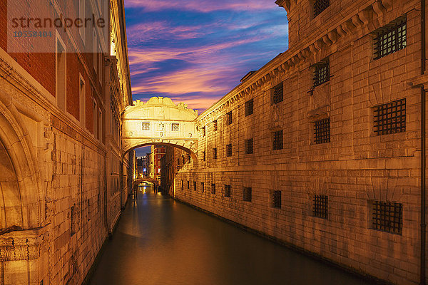
<svg viewBox="0 0 428 285">
<path fill-rule="evenodd" d="M 133 100 L 169 97 L 202 113 L 287 49 L 275 0 L 125 0 L 125 13 Z"/>
</svg>

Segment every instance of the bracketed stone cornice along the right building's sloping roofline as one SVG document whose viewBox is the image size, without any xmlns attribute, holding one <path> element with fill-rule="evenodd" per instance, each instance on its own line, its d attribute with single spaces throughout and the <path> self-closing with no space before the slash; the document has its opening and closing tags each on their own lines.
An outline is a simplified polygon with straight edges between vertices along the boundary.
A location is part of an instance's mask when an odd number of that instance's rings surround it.
<svg viewBox="0 0 428 285">
<path fill-rule="evenodd" d="M 277 2 L 285 4 L 287 0 L 278 0 Z M 288 2 L 295 3 L 294 0 Z M 374 0 L 372 4 L 357 10 L 357 14 L 345 18 L 344 21 L 337 24 L 335 28 L 330 29 L 330 31 L 326 33 L 322 33 L 315 41 L 307 43 L 302 48 L 292 48 L 284 53 L 280 53 L 279 56 L 273 58 L 272 61 L 255 72 L 247 81 L 233 88 L 233 90 L 218 100 L 217 103 L 200 114 L 198 117 L 198 125 L 204 125 L 214 120 L 218 117 L 218 113 L 228 108 L 230 104 L 238 102 L 248 93 L 253 93 L 255 90 L 260 89 L 260 87 L 265 86 L 272 78 L 278 78 L 284 73 L 290 73 L 290 71 L 293 71 L 293 69 L 300 66 L 300 64 L 307 61 L 307 59 L 315 58 L 318 53 L 325 51 L 343 38 L 352 37 L 355 30 L 371 24 L 374 19 L 381 18 L 391 8 L 392 0 Z"/>
</svg>

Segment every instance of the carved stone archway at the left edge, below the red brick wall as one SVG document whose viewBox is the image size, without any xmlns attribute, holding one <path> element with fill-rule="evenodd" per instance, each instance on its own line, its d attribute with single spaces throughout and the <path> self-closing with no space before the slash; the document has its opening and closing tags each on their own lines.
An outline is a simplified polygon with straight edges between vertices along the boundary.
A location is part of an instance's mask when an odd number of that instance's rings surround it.
<svg viewBox="0 0 428 285">
<path fill-rule="evenodd" d="M 10 98 L 0 99 L 0 230 L 36 229 L 44 222 L 44 193 L 33 145 Z"/>
</svg>

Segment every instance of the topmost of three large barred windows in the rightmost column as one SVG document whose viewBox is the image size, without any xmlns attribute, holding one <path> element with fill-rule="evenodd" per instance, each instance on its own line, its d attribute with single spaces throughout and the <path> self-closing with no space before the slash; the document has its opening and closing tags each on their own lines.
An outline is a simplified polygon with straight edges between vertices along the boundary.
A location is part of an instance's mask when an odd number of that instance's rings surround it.
<svg viewBox="0 0 428 285">
<path fill-rule="evenodd" d="M 379 59 L 407 46 L 407 20 L 400 17 L 379 29 L 374 39 L 374 59 Z"/>
</svg>

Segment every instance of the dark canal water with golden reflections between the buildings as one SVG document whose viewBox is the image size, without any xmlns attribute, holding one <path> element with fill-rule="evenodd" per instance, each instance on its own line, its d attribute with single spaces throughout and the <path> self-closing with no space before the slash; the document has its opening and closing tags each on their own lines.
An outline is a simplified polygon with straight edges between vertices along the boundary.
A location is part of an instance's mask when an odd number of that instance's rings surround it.
<svg viewBox="0 0 428 285">
<path fill-rule="evenodd" d="M 140 186 L 90 284 L 370 283 Z"/>
</svg>

